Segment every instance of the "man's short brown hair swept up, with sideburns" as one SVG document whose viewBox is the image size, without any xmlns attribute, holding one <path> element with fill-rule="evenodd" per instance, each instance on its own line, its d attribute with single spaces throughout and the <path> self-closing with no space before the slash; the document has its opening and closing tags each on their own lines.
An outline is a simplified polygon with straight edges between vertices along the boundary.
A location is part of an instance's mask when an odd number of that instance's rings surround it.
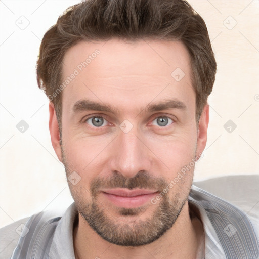
<svg viewBox="0 0 259 259">
<path fill-rule="evenodd" d="M 183 0 L 86 0 L 71 6 L 44 35 L 37 83 L 55 106 L 61 131 L 62 80 L 66 51 L 81 40 L 181 40 L 189 51 L 198 123 L 212 91 L 217 64 L 204 20 Z M 54 97 L 55 96 L 55 97 Z"/>
</svg>

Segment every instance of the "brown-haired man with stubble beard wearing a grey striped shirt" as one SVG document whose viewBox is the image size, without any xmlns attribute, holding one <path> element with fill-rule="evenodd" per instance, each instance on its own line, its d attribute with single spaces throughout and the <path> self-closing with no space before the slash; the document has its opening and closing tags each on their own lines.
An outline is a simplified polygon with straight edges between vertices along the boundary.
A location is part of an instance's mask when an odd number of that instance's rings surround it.
<svg viewBox="0 0 259 259">
<path fill-rule="evenodd" d="M 11 258 L 258 258 L 256 223 L 192 185 L 215 71 L 185 1 L 89 0 L 60 16 L 37 81 L 75 202 L 29 217 Z"/>
</svg>

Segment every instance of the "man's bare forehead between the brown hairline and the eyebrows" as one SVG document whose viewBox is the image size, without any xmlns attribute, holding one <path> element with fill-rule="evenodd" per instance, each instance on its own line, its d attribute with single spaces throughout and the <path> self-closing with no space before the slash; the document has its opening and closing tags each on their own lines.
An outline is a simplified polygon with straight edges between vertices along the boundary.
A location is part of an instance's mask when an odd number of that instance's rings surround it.
<svg viewBox="0 0 259 259">
<path fill-rule="evenodd" d="M 70 111 L 84 97 L 124 106 L 138 99 L 143 106 L 156 96 L 158 101 L 195 95 L 189 53 L 181 41 L 80 41 L 64 56 L 62 81 L 62 109 Z"/>
</svg>

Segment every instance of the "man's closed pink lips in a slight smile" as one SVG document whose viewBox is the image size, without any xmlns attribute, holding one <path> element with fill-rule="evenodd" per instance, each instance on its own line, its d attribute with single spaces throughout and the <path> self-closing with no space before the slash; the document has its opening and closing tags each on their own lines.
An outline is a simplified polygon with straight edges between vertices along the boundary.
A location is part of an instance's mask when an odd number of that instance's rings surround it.
<svg viewBox="0 0 259 259">
<path fill-rule="evenodd" d="M 147 189 L 128 190 L 120 188 L 102 190 L 102 194 L 106 199 L 118 207 L 136 208 L 143 206 L 150 201 L 158 194 L 158 191 Z"/>
</svg>

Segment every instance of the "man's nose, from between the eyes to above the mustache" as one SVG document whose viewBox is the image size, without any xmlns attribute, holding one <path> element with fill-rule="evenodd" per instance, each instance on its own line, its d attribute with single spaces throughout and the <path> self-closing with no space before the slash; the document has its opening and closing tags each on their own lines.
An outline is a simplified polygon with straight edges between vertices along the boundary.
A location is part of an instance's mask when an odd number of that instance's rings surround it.
<svg viewBox="0 0 259 259">
<path fill-rule="evenodd" d="M 151 171 L 152 152 L 146 146 L 147 139 L 133 127 L 128 133 L 119 130 L 115 139 L 110 165 L 126 178 L 132 178 L 139 171 Z"/>
</svg>

